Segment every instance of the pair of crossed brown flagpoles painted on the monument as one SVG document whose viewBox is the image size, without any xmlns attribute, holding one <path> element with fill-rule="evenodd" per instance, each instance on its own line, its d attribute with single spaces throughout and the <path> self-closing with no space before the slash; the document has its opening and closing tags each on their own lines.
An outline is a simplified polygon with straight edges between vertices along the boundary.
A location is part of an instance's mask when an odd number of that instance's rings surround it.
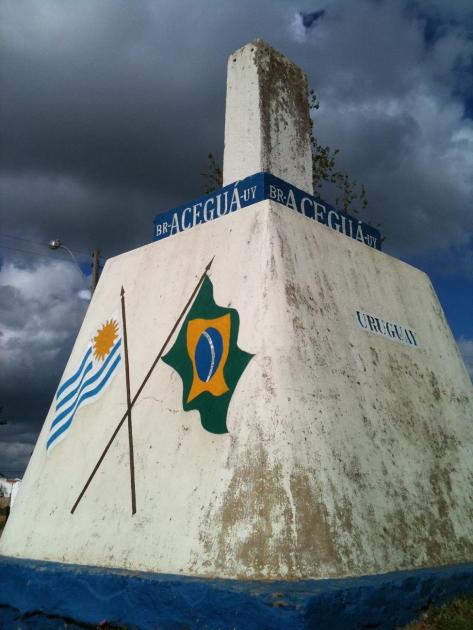
<svg viewBox="0 0 473 630">
<path fill-rule="evenodd" d="M 135 466 L 134 466 L 133 431 L 132 431 L 132 423 L 131 423 L 131 410 L 132 410 L 132 407 L 135 404 L 135 402 L 138 400 L 138 397 L 140 396 L 141 392 L 143 391 L 144 386 L 148 382 L 151 374 L 153 373 L 153 370 L 156 367 L 158 361 L 161 359 L 161 357 L 162 357 L 162 355 L 163 355 L 163 353 L 164 353 L 164 351 L 165 351 L 169 341 L 171 340 L 174 332 L 176 331 L 176 328 L 179 326 L 179 324 L 182 321 L 182 318 L 184 317 L 184 315 L 186 314 L 187 310 L 189 309 L 189 307 L 190 307 L 190 305 L 192 303 L 192 300 L 197 295 L 197 292 L 199 291 L 200 286 L 202 285 L 202 282 L 204 281 L 205 276 L 208 274 L 209 269 L 212 266 L 213 260 L 214 260 L 214 257 L 211 258 L 211 260 L 209 261 L 209 263 L 205 267 L 204 272 L 200 276 L 199 281 L 197 282 L 194 290 L 192 291 L 191 296 L 189 297 L 189 299 L 187 300 L 186 305 L 184 306 L 184 308 L 182 309 L 181 313 L 179 314 L 179 317 L 177 318 L 176 322 L 174 323 L 174 326 L 172 327 L 171 331 L 169 332 L 168 336 L 166 337 L 166 340 L 164 341 L 164 343 L 163 343 L 163 345 L 161 347 L 161 350 L 158 352 L 155 360 L 151 364 L 151 367 L 149 368 L 146 376 L 144 377 L 141 385 L 138 387 L 138 390 L 137 390 L 136 394 L 133 396 L 133 398 L 131 398 L 131 394 L 130 394 L 130 372 L 129 372 L 129 365 L 128 365 L 128 344 L 127 344 L 126 319 L 125 319 L 125 291 L 124 291 L 124 289 L 122 287 L 122 290 L 121 290 L 121 305 L 122 305 L 123 339 L 124 339 L 124 351 L 125 351 L 125 377 L 126 377 L 126 390 L 127 390 L 127 410 L 123 414 L 123 416 L 122 416 L 120 422 L 118 423 L 118 425 L 116 426 L 114 432 L 112 433 L 111 438 L 107 442 L 107 445 L 105 446 L 104 450 L 102 451 L 102 454 L 100 455 L 97 463 L 95 464 L 92 472 L 90 473 L 89 478 L 87 479 L 84 487 L 82 488 L 79 496 L 77 497 L 74 505 L 72 506 L 71 514 L 74 514 L 74 512 L 76 511 L 77 506 L 79 505 L 79 503 L 82 500 L 82 497 L 87 492 L 88 487 L 92 483 L 93 478 L 95 477 L 98 469 L 100 468 L 103 460 L 105 459 L 105 456 L 107 455 L 110 447 L 113 444 L 113 441 L 117 437 L 118 432 L 120 431 L 121 427 L 123 426 L 125 420 L 128 421 L 128 443 L 129 443 L 129 451 L 130 451 L 130 480 L 131 480 L 132 514 L 136 513 Z"/>
</svg>

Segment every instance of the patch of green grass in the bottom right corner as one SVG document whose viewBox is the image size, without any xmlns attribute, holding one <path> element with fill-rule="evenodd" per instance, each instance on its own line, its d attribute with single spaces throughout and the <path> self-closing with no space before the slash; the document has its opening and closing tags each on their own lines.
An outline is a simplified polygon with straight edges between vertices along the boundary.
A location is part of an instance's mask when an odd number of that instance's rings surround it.
<svg viewBox="0 0 473 630">
<path fill-rule="evenodd" d="M 439 608 L 429 608 L 405 630 L 473 630 L 473 596 L 458 597 Z"/>
</svg>

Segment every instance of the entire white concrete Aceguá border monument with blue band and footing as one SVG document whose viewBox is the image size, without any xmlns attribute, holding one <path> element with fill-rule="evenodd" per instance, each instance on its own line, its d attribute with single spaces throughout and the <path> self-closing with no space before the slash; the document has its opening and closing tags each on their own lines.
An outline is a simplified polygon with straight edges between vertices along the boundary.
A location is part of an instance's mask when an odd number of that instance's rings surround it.
<svg viewBox="0 0 473 630">
<path fill-rule="evenodd" d="M 5 615 L 395 627 L 473 589 L 462 358 L 311 168 L 304 73 L 244 46 L 224 187 L 106 264 L 0 542 Z"/>
</svg>

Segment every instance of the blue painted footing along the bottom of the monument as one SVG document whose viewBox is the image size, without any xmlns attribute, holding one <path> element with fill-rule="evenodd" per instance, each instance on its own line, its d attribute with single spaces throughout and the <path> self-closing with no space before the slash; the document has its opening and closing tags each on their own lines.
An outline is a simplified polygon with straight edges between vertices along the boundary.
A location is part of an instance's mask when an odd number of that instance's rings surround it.
<svg viewBox="0 0 473 630">
<path fill-rule="evenodd" d="M 331 580 L 242 581 L 0 556 L 0 627 L 396 628 L 473 594 L 473 564 Z M 64 625 L 68 620 L 71 625 Z M 78 625 L 76 625 L 78 624 Z"/>
</svg>

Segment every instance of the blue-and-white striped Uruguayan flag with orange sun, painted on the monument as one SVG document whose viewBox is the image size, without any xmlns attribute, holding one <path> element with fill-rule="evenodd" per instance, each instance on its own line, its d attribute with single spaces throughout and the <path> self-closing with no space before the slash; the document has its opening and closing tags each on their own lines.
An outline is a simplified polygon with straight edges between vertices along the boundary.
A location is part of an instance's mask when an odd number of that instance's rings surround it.
<svg viewBox="0 0 473 630">
<path fill-rule="evenodd" d="M 79 367 L 59 385 L 55 414 L 46 442 L 48 452 L 65 438 L 77 410 L 94 402 L 111 383 L 122 360 L 121 351 L 120 318 L 114 314 L 97 328 Z"/>
</svg>

